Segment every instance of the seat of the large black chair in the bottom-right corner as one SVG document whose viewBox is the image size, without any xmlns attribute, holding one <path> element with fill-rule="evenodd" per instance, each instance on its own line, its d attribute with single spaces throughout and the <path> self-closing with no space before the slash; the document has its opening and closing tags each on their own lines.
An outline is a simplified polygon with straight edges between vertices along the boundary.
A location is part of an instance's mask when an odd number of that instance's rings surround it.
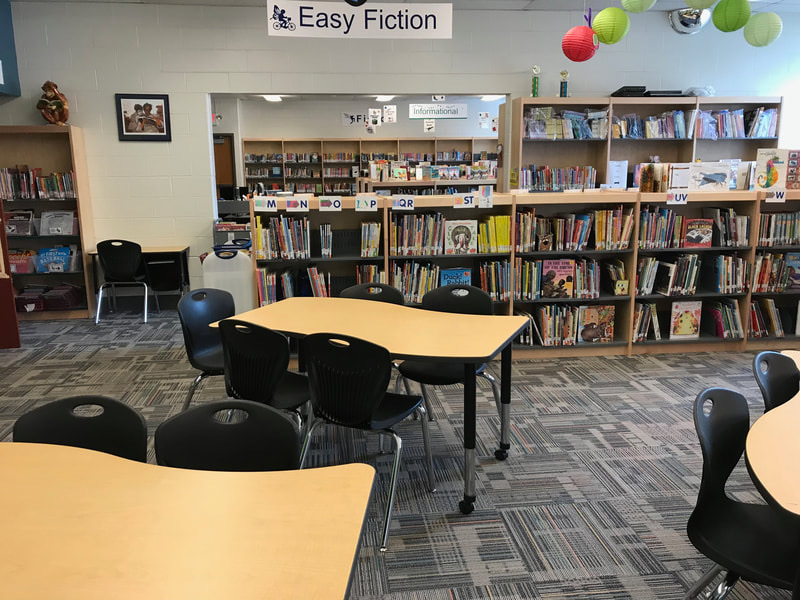
<svg viewBox="0 0 800 600">
<path fill-rule="evenodd" d="M 787 528 L 795 529 L 797 534 L 787 535 Z M 713 510 L 693 514 L 687 533 L 700 552 L 742 579 L 792 589 L 798 568 L 800 527 L 776 519 L 771 506 L 725 502 Z"/>
</svg>

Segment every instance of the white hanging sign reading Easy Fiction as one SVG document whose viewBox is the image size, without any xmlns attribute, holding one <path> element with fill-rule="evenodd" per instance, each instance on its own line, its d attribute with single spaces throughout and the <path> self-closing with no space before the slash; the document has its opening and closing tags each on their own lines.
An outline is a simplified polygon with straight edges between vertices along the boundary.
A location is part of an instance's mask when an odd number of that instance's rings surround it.
<svg viewBox="0 0 800 600">
<path fill-rule="evenodd" d="M 268 0 L 267 28 L 283 37 L 450 39 L 453 5 Z"/>
</svg>

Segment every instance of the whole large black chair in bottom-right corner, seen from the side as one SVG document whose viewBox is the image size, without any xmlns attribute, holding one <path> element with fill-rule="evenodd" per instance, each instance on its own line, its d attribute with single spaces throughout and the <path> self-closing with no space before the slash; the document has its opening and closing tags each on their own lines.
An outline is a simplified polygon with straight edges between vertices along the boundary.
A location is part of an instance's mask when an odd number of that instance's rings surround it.
<svg viewBox="0 0 800 600">
<path fill-rule="evenodd" d="M 792 589 L 798 559 L 798 529 L 777 509 L 746 504 L 725 494 L 725 482 L 744 452 L 750 415 L 744 396 L 709 388 L 694 402 L 694 424 L 703 452 L 703 477 L 689 517 L 689 540 L 716 564 L 687 592 L 695 598 L 721 572 L 712 596 L 725 597 L 739 579 Z"/>
</svg>

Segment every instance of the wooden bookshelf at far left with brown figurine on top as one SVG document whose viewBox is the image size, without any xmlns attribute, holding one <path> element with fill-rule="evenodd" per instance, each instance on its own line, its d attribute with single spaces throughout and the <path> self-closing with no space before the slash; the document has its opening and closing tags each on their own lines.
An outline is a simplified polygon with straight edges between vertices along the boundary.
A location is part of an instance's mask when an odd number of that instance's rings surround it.
<svg viewBox="0 0 800 600">
<path fill-rule="evenodd" d="M 94 227 L 91 217 L 91 198 L 89 196 L 88 170 L 82 131 L 74 126 L 4 126 L 0 127 L 0 167 L 14 168 L 27 165 L 40 168 L 42 175 L 50 173 L 74 174 L 74 197 L 58 200 L 38 198 L 13 198 L 4 201 L 5 211 L 32 210 L 34 219 L 40 219 L 47 210 L 74 211 L 77 219 L 77 232 L 69 235 L 46 235 L 36 230 L 34 235 L 2 235 L 9 250 L 21 249 L 34 252 L 42 248 L 56 246 L 75 246 L 80 253 L 77 269 L 50 273 L 11 273 L 15 292 L 19 293 L 26 285 L 46 285 L 55 287 L 61 283 L 80 286 L 80 304 L 64 310 L 43 310 L 20 312 L 20 320 L 29 319 L 70 319 L 86 318 L 93 312 L 94 290 L 91 261 L 87 252 L 88 244 L 94 241 Z M 10 269 L 9 269 L 10 271 Z"/>
</svg>

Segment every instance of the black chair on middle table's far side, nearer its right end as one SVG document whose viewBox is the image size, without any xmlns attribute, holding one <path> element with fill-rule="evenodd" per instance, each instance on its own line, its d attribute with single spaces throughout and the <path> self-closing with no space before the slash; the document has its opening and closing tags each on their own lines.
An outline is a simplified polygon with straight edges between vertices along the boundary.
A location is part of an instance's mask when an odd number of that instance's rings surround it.
<svg viewBox="0 0 800 600">
<path fill-rule="evenodd" d="M 422 308 L 449 313 L 491 315 L 492 299 L 489 294 L 480 288 L 471 285 L 452 284 L 436 288 L 425 294 L 422 297 Z M 428 390 L 425 386 L 464 383 L 464 365 L 458 363 L 407 360 L 400 364 L 398 370 L 400 371 L 400 377 L 397 383 L 399 384 L 402 380 L 406 393 L 411 393 L 411 388 L 408 384 L 409 379 L 420 384 L 422 397 L 425 399 L 425 408 L 428 411 L 430 420 L 433 420 L 433 413 L 431 412 Z M 497 380 L 486 371 L 485 364 L 480 365 L 475 374 L 478 377 L 483 377 L 491 384 L 497 412 L 501 413 L 500 387 Z"/>
</svg>

